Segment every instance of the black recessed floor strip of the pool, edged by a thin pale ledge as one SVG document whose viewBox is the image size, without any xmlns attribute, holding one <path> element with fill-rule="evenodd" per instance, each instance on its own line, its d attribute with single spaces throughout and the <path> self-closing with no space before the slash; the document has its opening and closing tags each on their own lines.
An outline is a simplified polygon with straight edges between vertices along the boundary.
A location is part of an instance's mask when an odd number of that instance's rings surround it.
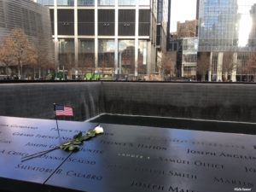
<svg viewBox="0 0 256 192">
<path fill-rule="evenodd" d="M 89 119 L 92 123 L 139 125 L 158 128 L 174 128 L 195 131 L 256 134 L 256 123 L 217 121 L 206 119 L 163 118 L 121 114 L 102 114 Z"/>
</svg>

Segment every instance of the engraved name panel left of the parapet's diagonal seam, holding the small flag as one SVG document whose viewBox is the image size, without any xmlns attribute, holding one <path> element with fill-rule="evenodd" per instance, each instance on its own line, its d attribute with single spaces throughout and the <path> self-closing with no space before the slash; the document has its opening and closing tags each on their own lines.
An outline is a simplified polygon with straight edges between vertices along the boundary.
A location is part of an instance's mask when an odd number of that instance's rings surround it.
<svg viewBox="0 0 256 192">
<path fill-rule="evenodd" d="M 72 127 L 73 131 L 76 127 L 85 131 L 84 126 L 78 122 L 59 121 L 60 128 Z M 86 125 L 87 129 L 91 127 L 92 124 Z M 21 157 L 54 148 L 73 137 L 73 134 L 60 132 L 61 140 L 54 120 L 0 117 L 0 189 L 26 189 L 27 185 L 19 181 L 32 183 L 28 186 L 43 184 L 70 152 L 55 150 L 24 162 Z"/>
</svg>

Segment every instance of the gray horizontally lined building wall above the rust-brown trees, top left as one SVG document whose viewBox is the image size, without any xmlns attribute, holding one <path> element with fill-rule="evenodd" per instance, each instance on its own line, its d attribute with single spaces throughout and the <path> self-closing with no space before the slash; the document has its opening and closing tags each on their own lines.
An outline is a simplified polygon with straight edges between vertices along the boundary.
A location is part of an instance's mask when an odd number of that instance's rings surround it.
<svg viewBox="0 0 256 192">
<path fill-rule="evenodd" d="M 36 49 L 54 58 L 48 8 L 31 0 L 0 0 L 0 41 L 13 28 L 24 30 Z"/>
</svg>

